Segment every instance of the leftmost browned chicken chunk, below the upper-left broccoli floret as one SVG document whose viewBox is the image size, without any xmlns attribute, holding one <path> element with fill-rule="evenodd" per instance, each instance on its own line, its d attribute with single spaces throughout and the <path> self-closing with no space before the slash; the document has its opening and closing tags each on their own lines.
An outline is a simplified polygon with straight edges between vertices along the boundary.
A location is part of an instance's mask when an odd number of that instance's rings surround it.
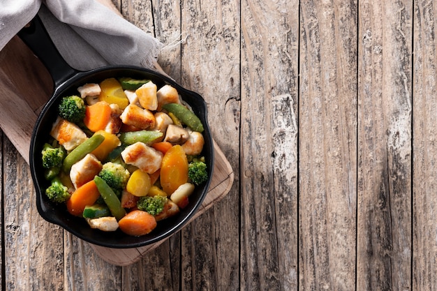
<svg viewBox="0 0 437 291">
<path fill-rule="evenodd" d="M 88 139 L 87 135 L 79 128 L 66 119 L 58 117 L 50 130 L 50 135 L 63 145 L 67 151 L 75 149 L 79 144 L 82 144 Z"/>
</svg>

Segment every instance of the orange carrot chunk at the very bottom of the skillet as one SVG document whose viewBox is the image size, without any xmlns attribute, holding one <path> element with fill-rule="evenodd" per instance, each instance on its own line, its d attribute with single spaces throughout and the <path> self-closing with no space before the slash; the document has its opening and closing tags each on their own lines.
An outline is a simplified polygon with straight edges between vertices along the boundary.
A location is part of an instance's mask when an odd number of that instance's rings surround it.
<svg viewBox="0 0 437 291">
<path fill-rule="evenodd" d="M 119 220 L 120 230 L 126 234 L 140 237 L 156 227 L 156 219 L 146 211 L 133 210 Z"/>
</svg>

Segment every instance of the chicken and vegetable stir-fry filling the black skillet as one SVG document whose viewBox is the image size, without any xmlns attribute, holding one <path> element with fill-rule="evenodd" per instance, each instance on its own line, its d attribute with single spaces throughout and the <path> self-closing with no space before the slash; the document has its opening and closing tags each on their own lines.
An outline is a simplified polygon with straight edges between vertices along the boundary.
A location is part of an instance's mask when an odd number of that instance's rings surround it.
<svg viewBox="0 0 437 291">
<path fill-rule="evenodd" d="M 41 151 L 45 193 L 90 227 L 141 236 L 208 179 L 200 119 L 177 90 L 108 78 L 65 96 Z"/>
</svg>

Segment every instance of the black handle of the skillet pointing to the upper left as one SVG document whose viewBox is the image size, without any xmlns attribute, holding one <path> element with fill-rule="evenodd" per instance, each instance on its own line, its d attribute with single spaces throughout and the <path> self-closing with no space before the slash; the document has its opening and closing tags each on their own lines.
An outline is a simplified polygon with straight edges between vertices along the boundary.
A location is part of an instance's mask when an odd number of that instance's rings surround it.
<svg viewBox="0 0 437 291">
<path fill-rule="evenodd" d="M 59 87 L 60 84 L 78 73 L 61 56 L 38 15 L 19 31 L 17 36 L 21 38 L 44 64 L 45 68 L 47 68 L 52 76 L 54 88 Z"/>
</svg>

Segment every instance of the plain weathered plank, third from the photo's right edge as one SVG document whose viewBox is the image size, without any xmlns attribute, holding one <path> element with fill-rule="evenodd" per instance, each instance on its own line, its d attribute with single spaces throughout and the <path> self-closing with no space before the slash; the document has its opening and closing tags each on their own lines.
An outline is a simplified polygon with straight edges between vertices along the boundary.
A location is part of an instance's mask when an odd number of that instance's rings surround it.
<svg viewBox="0 0 437 291">
<path fill-rule="evenodd" d="M 301 1 L 299 288 L 355 285 L 357 1 Z"/>
</svg>

